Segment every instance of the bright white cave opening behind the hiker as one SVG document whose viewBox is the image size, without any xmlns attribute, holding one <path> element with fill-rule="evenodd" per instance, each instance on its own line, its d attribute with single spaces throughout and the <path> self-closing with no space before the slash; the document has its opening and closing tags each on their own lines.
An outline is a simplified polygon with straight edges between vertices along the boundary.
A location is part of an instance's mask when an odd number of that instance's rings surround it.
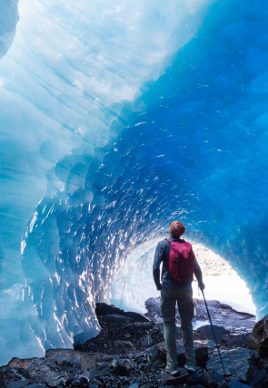
<svg viewBox="0 0 268 388">
<path fill-rule="evenodd" d="M 162 239 L 162 238 L 161 238 Z M 111 303 L 115 306 L 145 313 L 144 302 L 149 297 L 160 296 L 154 286 L 152 267 L 154 249 L 159 238 L 146 241 L 126 258 L 119 269 L 111 290 Z M 233 268 L 202 244 L 191 242 L 194 254 L 203 271 L 204 295 L 232 306 L 237 311 L 256 315 L 256 307 L 243 279 Z M 194 298 L 202 299 L 197 282 L 193 282 Z"/>
</svg>

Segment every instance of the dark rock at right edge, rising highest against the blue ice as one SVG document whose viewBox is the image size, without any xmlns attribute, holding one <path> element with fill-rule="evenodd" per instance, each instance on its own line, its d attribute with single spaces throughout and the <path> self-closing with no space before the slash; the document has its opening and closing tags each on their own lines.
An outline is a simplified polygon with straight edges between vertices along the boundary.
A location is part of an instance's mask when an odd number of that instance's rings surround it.
<svg viewBox="0 0 268 388">
<path fill-rule="evenodd" d="M 254 325 L 253 333 L 247 337 L 247 345 L 258 350 L 262 358 L 268 356 L 268 314 Z"/>
</svg>

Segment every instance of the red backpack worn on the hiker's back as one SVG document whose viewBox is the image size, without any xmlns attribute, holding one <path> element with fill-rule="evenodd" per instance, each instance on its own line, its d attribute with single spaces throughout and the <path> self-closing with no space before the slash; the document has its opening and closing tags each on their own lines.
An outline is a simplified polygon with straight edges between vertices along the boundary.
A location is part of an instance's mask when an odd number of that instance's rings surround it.
<svg viewBox="0 0 268 388">
<path fill-rule="evenodd" d="M 174 280 L 182 285 L 187 285 L 194 280 L 194 252 L 192 245 L 186 241 L 170 241 L 165 238 L 170 245 L 168 259 L 168 272 Z"/>
</svg>

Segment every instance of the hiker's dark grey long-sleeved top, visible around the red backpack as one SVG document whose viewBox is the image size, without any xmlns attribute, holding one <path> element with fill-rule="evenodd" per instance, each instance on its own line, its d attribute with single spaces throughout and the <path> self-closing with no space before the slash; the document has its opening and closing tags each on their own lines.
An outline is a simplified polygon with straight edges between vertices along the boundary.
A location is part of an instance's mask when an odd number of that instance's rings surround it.
<svg viewBox="0 0 268 388">
<path fill-rule="evenodd" d="M 185 241 L 182 238 L 174 238 L 172 235 L 168 239 L 170 241 L 180 241 L 180 242 Z M 169 253 L 170 253 L 170 245 L 169 245 L 168 241 L 166 241 L 166 240 L 159 241 L 159 243 L 157 244 L 156 249 L 155 249 L 154 266 L 153 266 L 154 283 L 155 283 L 155 286 L 157 289 L 160 289 L 160 287 L 161 287 L 160 265 L 162 262 L 163 262 L 162 286 L 164 286 L 164 288 L 168 288 L 168 289 L 175 289 L 175 288 L 178 288 L 180 286 L 183 286 L 179 282 L 176 282 L 172 278 L 170 273 L 168 272 Z M 195 275 L 198 283 L 202 284 L 203 283 L 202 271 L 201 271 L 201 268 L 199 267 L 199 264 L 197 263 L 196 257 L 194 257 L 194 275 Z"/>
</svg>

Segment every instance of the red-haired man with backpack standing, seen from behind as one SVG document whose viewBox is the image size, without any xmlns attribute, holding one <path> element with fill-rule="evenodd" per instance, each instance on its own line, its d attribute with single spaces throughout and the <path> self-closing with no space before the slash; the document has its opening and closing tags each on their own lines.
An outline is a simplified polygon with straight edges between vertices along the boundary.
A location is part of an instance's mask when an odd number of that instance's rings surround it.
<svg viewBox="0 0 268 388">
<path fill-rule="evenodd" d="M 195 275 L 201 290 L 204 289 L 202 271 L 194 256 L 190 243 L 181 238 L 184 224 L 174 221 L 170 224 L 169 238 L 157 244 L 154 255 L 154 283 L 161 290 L 160 314 L 164 320 L 164 341 L 166 345 L 166 372 L 178 373 L 176 352 L 175 305 L 181 317 L 184 340 L 185 368 L 194 372 L 196 368 L 192 319 L 194 316 L 192 281 Z M 163 263 L 162 284 L 160 265 Z"/>
</svg>

